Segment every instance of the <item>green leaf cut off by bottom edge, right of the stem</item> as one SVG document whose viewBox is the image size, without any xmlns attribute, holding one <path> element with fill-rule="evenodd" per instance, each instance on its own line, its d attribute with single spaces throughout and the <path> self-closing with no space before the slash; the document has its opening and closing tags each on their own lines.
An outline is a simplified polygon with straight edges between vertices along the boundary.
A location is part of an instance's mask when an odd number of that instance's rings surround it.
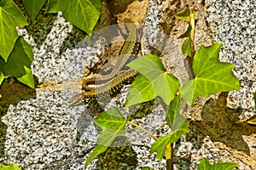
<svg viewBox="0 0 256 170">
<path fill-rule="evenodd" d="M 224 162 L 224 163 L 215 163 L 211 165 L 207 158 L 203 158 L 198 165 L 197 170 L 233 170 L 235 167 L 238 167 L 238 163 Z"/>
</svg>

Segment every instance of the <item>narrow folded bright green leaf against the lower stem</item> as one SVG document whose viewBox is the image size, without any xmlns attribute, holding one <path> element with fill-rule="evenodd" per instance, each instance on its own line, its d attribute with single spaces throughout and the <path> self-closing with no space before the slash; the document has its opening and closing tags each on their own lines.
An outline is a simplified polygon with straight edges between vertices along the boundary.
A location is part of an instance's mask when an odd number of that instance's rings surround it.
<svg viewBox="0 0 256 170">
<path fill-rule="evenodd" d="M 189 122 L 180 114 L 181 102 L 180 95 L 172 100 L 166 114 L 166 122 L 171 127 L 172 133 L 156 140 L 152 144 L 150 152 L 156 151 L 157 159 L 162 160 L 165 155 L 167 144 L 176 142 L 184 133 L 189 132 Z"/>
</svg>

